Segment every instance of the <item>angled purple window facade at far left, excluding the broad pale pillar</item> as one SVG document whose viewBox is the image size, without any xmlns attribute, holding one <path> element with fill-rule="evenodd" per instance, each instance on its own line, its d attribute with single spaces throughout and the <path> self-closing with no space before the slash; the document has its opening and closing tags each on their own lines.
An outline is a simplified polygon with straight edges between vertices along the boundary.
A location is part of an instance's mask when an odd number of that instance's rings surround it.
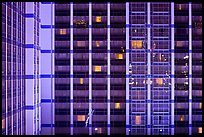
<svg viewBox="0 0 204 137">
<path fill-rule="evenodd" d="M 2 3 L 2 135 L 25 134 L 25 3 Z"/>
</svg>

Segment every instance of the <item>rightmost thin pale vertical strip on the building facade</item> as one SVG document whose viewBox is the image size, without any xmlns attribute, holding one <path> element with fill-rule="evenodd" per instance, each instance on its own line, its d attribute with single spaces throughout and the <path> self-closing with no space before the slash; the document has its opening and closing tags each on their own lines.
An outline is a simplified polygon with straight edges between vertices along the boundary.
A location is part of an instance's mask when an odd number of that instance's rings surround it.
<svg viewBox="0 0 204 137">
<path fill-rule="evenodd" d="M 192 8 L 189 3 L 189 135 L 192 135 Z"/>
</svg>

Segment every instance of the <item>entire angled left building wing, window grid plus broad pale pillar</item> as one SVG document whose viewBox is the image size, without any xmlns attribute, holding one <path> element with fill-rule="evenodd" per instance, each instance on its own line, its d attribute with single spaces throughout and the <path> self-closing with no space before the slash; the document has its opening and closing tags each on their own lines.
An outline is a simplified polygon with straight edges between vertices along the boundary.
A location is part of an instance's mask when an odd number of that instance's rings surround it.
<svg viewBox="0 0 204 137">
<path fill-rule="evenodd" d="M 40 134 L 39 3 L 2 3 L 2 134 Z"/>
</svg>

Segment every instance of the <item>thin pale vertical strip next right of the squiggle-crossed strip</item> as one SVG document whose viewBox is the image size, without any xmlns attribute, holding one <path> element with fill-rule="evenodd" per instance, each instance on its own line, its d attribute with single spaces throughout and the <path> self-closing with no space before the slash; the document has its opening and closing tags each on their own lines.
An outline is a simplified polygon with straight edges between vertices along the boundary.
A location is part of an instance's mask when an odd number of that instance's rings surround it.
<svg viewBox="0 0 204 137">
<path fill-rule="evenodd" d="M 107 17 L 107 23 L 108 23 L 108 41 L 107 41 L 107 45 L 108 45 L 108 103 L 107 103 L 107 109 L 108 109 L 108 116 L 107 116 L 107 123 L 108 123 L 108 135 L 110 135 L 110 2 L 108 2 L 107 4 L 107 9 L 108 9 L 108 17 Z"/>
</svg>

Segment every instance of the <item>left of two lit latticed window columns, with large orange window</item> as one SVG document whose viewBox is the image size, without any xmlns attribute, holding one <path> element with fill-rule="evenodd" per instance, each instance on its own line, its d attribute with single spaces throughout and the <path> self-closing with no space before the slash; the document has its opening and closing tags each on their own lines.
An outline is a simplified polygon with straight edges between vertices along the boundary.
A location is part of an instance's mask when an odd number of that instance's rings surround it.
<svg viewBox="0 0 204 137">
<path fill-rule="evenodd" d="M 146 135 L 147 3 L 130 3 L 130 135 Z"/>
</svg>

